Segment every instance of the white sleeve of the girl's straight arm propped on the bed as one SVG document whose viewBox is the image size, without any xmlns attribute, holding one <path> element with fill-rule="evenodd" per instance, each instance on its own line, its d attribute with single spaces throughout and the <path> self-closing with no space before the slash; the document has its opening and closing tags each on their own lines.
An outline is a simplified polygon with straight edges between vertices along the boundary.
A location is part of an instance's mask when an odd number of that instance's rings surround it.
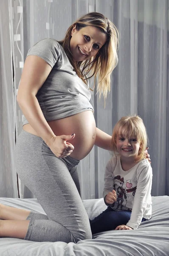
<svg viewBox="0 0 169 256">
<path fill-rule="evenodd" d="M 150 164 L 137 171 L 137 189 L 135 192 L 132 213 L 127 226 L 137 229 L 141 223 L 144 212 L 148 207 L 148 215 L 151 216 L 151 189 L 152 189 L 152 168 Z M 148 205 L 149 204 L 149 205 Z"/>
</svg>

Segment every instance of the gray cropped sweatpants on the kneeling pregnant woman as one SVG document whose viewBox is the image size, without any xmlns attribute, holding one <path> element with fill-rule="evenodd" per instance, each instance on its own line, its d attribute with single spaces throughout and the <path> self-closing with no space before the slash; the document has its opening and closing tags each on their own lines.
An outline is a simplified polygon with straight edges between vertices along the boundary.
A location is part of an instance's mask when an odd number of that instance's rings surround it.
<svg viewBox="0 0 169 256">
<path fill-rule="evenodd" d="M 24 130 L 17 138 L 15 157 L 20 180 L 46 213 L 30 213 L 25 239 L 66 243 L 91 239 L 89 218 L 79 195 L 79 160 L 56 157 L 42 138 Z"/>
</svg>

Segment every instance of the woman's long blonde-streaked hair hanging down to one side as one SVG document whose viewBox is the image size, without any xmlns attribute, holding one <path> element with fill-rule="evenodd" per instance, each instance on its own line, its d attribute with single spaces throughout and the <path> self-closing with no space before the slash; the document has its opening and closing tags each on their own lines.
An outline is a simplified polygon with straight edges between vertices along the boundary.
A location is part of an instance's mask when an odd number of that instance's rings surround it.
<svg viewBox="0 0 169 256">
<path fill-rule="evenodd" d="M 85 26 L 95 26 L 101 30 L 101 32 L 107 35 L 106 43 L 101 47 L 95 56 L 86 61 L 73 62 L 73 55 L 70 51 L 70 39 L 73 26 L 76 25 L 76 29 L 80 30 Z M 103 94 L 104 99 L 107 93 L 110 92 L 110 75 L 118 63 L 118 29 L 115 25 L 104 15 L 99 12 L 90 12 L 79 19 L 77 19 L 67 30 L 65 38 L 59 41 L 65 50 L 68 59 L 76 71 L 77 75 L 87 84 L 86 79 L 94 76 L 94 87 L 96 82 L 96 76 L 99 75 L 99 82 L 97 86 L 97 92 L 99 96 Z M 80 68 L 82 65 L 82 69 Z M 85 71 L 85 72 L 84 72 Z M 85 78 L 89 72 L 92 74 Z"/>
</svg>

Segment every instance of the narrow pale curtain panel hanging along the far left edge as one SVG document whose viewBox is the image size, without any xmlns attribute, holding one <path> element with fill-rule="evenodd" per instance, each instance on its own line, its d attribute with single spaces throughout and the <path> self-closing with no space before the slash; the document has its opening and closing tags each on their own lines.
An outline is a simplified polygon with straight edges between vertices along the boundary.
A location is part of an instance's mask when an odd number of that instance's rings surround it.
<svg viewBox="0 0 169 256">
<path fill-rule="evenodd" d="M 0 197 L 17 197 L 15 89 L 8 1 L 0 3 Z"/>
</svg>

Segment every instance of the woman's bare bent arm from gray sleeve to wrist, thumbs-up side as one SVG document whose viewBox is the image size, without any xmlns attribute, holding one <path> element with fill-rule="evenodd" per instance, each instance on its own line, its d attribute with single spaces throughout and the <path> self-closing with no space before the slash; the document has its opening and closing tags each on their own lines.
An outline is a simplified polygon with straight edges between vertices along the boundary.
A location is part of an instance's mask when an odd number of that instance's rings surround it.
<svg viewBox="0 0 169 256">
<path fill-rule="evenodd" d="M 51 72 L 51 66 L 42 58 L 30 55 L 26 58 L 17 102 L 31 127 L 47 142 L 55 136 L 42 113 L 36 94 Z"/>
</svg>

